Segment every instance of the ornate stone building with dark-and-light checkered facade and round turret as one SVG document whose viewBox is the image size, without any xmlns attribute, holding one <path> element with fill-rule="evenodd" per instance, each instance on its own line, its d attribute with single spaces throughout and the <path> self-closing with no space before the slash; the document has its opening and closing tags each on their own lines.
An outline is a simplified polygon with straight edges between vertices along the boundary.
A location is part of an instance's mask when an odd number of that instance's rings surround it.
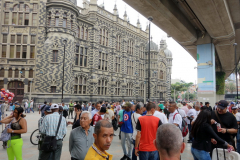
<svg viewBox="0 0 240 160">
<path fill-rule="evenodd" d="M 143 100 L 148 33 L 97 0 L 1 0 L 0 88 L 15 100 Z M 171 52 L 151 43 L 151 100 L 170 97 Z M 65 58 L 64 58 L 65 57 Z M 63 65 L 64 64 L 64 65 Z"/>
</svg>

